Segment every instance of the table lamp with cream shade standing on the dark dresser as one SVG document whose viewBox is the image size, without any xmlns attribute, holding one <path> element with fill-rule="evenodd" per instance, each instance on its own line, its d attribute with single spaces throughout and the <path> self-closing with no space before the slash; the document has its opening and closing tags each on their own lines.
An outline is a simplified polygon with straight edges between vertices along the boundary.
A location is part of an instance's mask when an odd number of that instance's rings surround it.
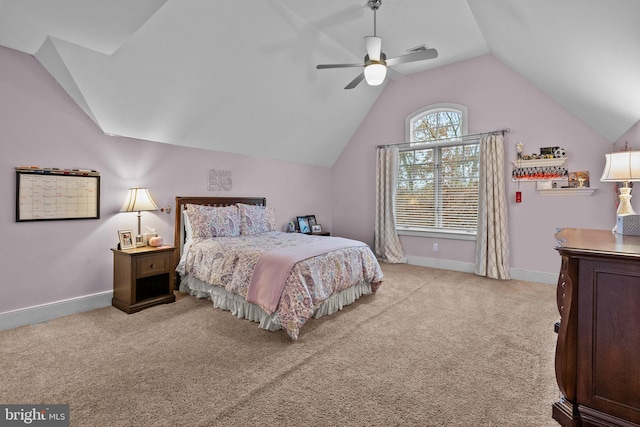
<svg viewBox="0 0 640 427">
<path fill-rule="evenodd" d="M 606 163 L 600 181 L 621 182 L 617 216 L 636 215 L 631 206 L 631 182 L 640 181 L 640 151 L 605 154 Z M 618 230 L 618 224 L 613 229 Z"/>
</svg>

